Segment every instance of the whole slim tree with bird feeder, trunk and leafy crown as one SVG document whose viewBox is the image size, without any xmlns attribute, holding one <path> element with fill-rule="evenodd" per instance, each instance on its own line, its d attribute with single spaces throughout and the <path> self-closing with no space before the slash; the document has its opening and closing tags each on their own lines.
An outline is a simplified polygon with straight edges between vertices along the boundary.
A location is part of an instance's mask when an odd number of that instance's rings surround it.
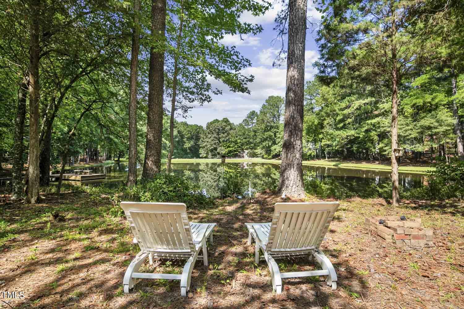
<svg viewBox="0 0 464 309">
<path fill-rule="evenodd" d="M 354 1 L 332 0 L 325 13 L 317 39 L 321 57 L 329 65 L 320 65 L 327 80 L 332 73 L 349 74 L 352 79 L 390 84 L 392 202 L 398 205 L 398 103 L 402 80 L 412 74 L 426 55 L 420 25 L 420 3 L 415 0 Z M 417 30 L 417 31 L 416 31 Z M 330 65 L 331 63 L 331 65 Z M 328 77 L 328 78 L 327 78 Z"/>
</svg>

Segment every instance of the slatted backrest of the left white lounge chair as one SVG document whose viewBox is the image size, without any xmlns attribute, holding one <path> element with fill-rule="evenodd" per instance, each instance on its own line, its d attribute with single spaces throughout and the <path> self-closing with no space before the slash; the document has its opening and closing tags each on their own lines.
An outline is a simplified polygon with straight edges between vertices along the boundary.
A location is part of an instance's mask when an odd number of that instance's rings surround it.
<svg viewBox="0 0 464 309">
<path fill-rule="evenodd" d="M 142 251 L 194 251 L 193 236 L 183 203 L 121 202 Z"/>
</svg>

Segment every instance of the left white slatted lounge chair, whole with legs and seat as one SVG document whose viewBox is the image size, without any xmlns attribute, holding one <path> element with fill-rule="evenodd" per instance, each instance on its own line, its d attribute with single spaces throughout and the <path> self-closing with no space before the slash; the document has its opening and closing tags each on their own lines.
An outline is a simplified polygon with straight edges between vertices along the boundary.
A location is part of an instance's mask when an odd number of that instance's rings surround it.
<svg viewBox="0 0 464 309">
<path fill-rule="evenodd" d="M 124 293 L 136 284 L 136 278 L 180 280 L 180 294 L 187 296 L 190 277 L 197 258 L 208 265 L 206 237 L 213 243 L 213 228 L 216 223 L 193 223 L 187 218 L 183 203 L 121 202 L 121 207 L 129 221 L 134 243 L 140 252 L 130 263 L 124 280 Z M 203 249 L 203 255 L 198 253 Z M 154 274 L 138 272 L 140 266 L 153 257 L 164 259 L 187 259 L 182 274 Z"/>
</svg>

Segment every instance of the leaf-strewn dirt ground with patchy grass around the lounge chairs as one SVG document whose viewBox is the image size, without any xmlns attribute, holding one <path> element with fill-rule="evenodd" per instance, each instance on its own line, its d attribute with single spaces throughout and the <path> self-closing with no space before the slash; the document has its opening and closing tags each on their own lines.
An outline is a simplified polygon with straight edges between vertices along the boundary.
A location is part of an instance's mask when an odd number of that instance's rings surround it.
<svg viewBox="0 0 464 309">
<path fill-rule="evenodd" d="M 175 280 L 141 280 L 132 293 L 122 293 L 124 271 L 138 247 L 125 219 L 112 215 L 116 208 L 108 195 L 67 192 L 58 201 L 49 194 L 35 206 L 0 195 L 0 308 L 464 308 L 463 204 L 406 202 L 393 208 L 380 199 L 340 201 L 322 243 L 337 271 L 337 290 L 323 278 L 290 278 L 283 294 L 275 295 L 266 264 L 254 264 L 243 223 L 269 222 L 278 201 L 261 194 L 251 203 L 225 200 L 187 210 L 191 221 L 218 227 L 208 244 L 210 264 L 197 261 L 191 294 L 183 298 Z M 53 220 L 57 210 L 63 222 Z M 436 246 L 378 242 L 362 223 L 384 214 L 420 215 L 434 229 Z M 315 267 L 306 259 L 278 263 L 282 271 Z M 182 266 L 159 260 L 143 271 L 179 272 Z M 5 297 L 3 291 L 24 297 Z"/>
</svg>

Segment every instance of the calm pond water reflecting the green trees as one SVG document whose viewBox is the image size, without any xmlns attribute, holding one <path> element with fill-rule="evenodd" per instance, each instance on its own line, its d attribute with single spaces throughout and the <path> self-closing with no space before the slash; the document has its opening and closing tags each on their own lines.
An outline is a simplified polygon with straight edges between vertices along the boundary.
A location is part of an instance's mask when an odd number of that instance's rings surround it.
<svg viewBox="0 0 464 309">
<path fill-rule="evenodd" d="M 223 168 L 220 163 L 173 163 L 175 174 L 187 177 L 212 196 L 220 196 Z M 123 184 L 127 178 L 127 164 L 117 163 L 101 167 L 90 168 L 94 173 L 105 173 L 106 179 L 82 183 L 84 185 L 103 185 L 116 188 Z M 163 169 L 166 165 L 163 163 Z M 227 163 L 224 167 L 224 176 L 227 179 L 238 182 L 243 192 L 251 188 L 257 191 L 264 189 L 276 189 L 278 185 L 280 165 L 271 163 Z M 305 180 L 318 179 L 320 181 L 335 181 L 337 184 L 352 192 L 363 192 L 372 186 L 389 186 L 390 173 L 376 170 L 352 170 L 337 167 L 308 166 L 303 165 Z M 142 169 L 137 169 L 137 175 L 142 175 Z M 412 173 L 400 173 L 400 185 L 408 190 L 420 187 L 423 184 L 424 175 Z M 64 184 L 66 182 L 63 182 Z M 76 184 L 76 183 L 74 183 Z"/>
</svg>

